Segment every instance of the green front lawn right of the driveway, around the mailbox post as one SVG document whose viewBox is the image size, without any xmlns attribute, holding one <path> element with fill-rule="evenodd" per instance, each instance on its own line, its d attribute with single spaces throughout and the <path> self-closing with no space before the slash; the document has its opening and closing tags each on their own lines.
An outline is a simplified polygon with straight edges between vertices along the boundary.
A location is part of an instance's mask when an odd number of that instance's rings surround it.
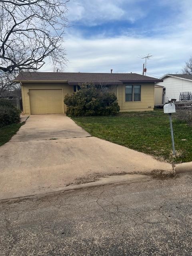
<svg viewBox="0 0 192 256">
<path fill-rule="evenodd" d="M 92 136 L 151 154 L 171 163 L 190 162 L 192 161 L 192 128 L 172 116 L 176 158 L 172 157 L 169 117 L 162 110 L 72 119 Z"/>
</svg>

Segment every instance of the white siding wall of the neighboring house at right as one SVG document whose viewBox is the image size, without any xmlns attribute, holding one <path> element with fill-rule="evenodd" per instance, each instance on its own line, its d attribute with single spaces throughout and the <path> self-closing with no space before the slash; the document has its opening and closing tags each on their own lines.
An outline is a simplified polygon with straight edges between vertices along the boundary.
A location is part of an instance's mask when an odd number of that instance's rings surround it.
<svg viewBox="0 0 192 256">
<path fill-rule="evenodd" d="M 166 88 L 166 95 L 163 95 L 163 103 L 168 102 L 168 99 L 176 99 L 179 101 L 180 92 L 192 92 L 192 81 L 167 77 L 163 79 L 163 83 L 157 83 Z"/>
</svg>

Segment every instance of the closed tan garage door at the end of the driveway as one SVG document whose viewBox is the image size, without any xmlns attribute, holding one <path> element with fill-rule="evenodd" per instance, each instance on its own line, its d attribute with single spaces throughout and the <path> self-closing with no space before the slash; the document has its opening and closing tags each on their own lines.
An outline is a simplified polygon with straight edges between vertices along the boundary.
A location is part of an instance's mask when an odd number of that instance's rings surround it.
<svg viewBox="0 0 192 256">
<path fill-rule="evenodd" d="M 62 90 L 29 90 L 31 114 L 63 113 Z"/>
</svg>

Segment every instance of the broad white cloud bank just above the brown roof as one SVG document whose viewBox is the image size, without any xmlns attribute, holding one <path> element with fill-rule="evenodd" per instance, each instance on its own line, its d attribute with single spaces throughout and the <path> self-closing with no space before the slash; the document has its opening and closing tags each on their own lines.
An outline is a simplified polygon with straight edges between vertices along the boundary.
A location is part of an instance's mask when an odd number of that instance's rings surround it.
<svg viewBox="0 0 192 256">
<path fill-rule="evenodd" d="M 189 38 L 188 38 L 189 39 Z M 151 53 L 154 58 L 148 61 L 148 72 L 161 76 L 176 72 L 192 52 L 190 40 L 185 34 L 158 38 L 116 38 L 85 39 L 70 36 L 66 42 L 69 59 L 66 72 L 142 72 L 143 60 L 140 54 Z"/>
</svg>

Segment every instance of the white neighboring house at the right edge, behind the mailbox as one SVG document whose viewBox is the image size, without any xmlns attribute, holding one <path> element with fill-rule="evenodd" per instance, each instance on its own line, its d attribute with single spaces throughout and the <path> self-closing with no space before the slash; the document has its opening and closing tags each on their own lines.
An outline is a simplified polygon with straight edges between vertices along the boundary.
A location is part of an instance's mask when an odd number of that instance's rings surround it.
<svg viewBox="0 0 192 256">
<path fill-rule="evenodd" d="M 191 100 L 192 95 L 192 74 L 166 74 L 162 78 L 164 91 L 163 104 L 168 102 L 169 99 L 176 101 Z M 157 83 L 157 85 L 161 85 Z"/>
</svg>

